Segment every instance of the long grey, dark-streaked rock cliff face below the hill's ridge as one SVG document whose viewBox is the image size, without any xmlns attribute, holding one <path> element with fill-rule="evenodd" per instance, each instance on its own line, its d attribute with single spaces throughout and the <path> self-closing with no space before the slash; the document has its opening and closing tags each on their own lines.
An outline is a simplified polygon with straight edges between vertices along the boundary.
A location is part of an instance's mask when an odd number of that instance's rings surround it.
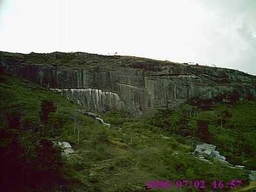
<svg viewBox="0 0 256 192">
<path fill-rule="evenodd" d="M 54 67 L 53 63 L 44 63 L 43 56 L 42 62 L 35 64 L 31 58 L 26 58 L 28 55 L 24 55 L 24 60 L 4 59 L 2 68 L 61 92 L 68 99 L 99 113 L 119 109 L 140 116 L 150 109 L 174 108 L 192 97 L 210 99 L 233 91 L 242 96 L 252 93 L 256 97 L 256 77 L 227 68 L 127 56 L 113 60 L 99 56 L 100 61 L 90 66 Z M 74 57 L 80 55 L 83 53 L 76 53 Z M 88 55 L 81 61 L 88 63 Z M 56 58 L 56 54 L 54 56 Z"/>
</svg>

